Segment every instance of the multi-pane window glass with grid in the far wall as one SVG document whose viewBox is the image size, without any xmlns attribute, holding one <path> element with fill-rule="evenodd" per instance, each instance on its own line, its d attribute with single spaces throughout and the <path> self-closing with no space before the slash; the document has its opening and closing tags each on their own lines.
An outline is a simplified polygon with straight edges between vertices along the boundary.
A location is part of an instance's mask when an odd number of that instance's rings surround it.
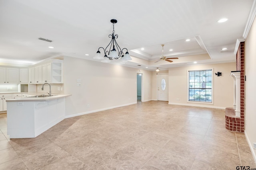
<svg viewBox="0 0 256 170">
<path fill-rule="evenodd" d="M 212 102 L 212 70 L 188 71 L 188 101 Z"/>
</svg>

